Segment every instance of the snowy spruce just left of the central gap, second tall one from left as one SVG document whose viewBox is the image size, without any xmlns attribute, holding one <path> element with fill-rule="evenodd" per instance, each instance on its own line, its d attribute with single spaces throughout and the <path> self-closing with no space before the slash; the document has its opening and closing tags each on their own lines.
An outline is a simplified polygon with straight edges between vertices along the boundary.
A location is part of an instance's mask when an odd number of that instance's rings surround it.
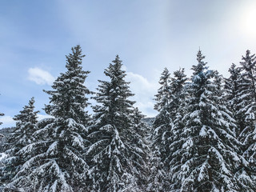
<svg viewBox="0 0 256 192">
<path fill-rule="evenodd" d="M 94 125 L 90 127 L 90 149 L 88 158 L 92 159 L 90 176 L 93 179 L 94 191 L 136 191 L 142 166 L 146 165 L 146 152 L 142 141 L 134 134 L 133 114 L 134 102 L 128 98 L 133 96 L 129 83 L 125 81 L 126 73 L 118 55 L 104 74 L 110 82 L 99 81 L 98 93 L 94 99 Z M 132 136 L 132 138 L 130 138 Z M 132 145 L 131 145 L 132 143 Z M 137 145 L 136 145 L 137 144 Z"/>
</svg>

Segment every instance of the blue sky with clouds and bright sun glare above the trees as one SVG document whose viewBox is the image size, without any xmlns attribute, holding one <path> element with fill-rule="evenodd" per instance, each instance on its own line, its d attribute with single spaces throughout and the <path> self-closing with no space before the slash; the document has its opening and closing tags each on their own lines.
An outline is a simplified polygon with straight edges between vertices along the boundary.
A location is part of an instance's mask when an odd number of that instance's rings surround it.
<svg viewBox="0 0 256 192">
<path fill-rule="evenodd" d="M 210 68 L 227 76 L 247 49 L 256 53 L 255 20 L 253 0 L 1 1 L 0 128 L 14 125 L 33 96 L 45 117 L 42 90 L 65 71 L 65 55 L 77 44 L 86 54 L 83 69 L 91 71 L 90 90 L 119 54 L 136 105 L 152 117 L 164 67 L 190 75 L 200 46 Z"/>
</svg>

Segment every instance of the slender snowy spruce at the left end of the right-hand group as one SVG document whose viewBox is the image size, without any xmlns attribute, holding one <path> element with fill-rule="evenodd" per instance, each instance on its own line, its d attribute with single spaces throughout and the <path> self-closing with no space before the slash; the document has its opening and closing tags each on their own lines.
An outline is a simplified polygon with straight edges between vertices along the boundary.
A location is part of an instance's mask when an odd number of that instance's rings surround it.
<svg viewBox="0 0 256 192">
<path fill-rule="evenodd" d="M 150 178 L 152 180 L 148 190 L 158 189 L 165 191 L 169 186 L 166 174 L 166 165 L 164 164 L 169 154 L 168 138 L 170 137 L 170 73 L 166 68 L 163 70 L 160 80 L 158 94 L 155 95 L 156 104 L 154 110 L 158 110 L 158 115 L 154 118 L 152 125 L 152 140 L 150 159 Z M 159 150 L 159 151 L 155 151 Z M 157 155 L 160 155 L 159 157 Z M 159 162 L 157 162 L 159 161 Z M 159 186 L 156 186 L 159 185 Z"/>
</svg>

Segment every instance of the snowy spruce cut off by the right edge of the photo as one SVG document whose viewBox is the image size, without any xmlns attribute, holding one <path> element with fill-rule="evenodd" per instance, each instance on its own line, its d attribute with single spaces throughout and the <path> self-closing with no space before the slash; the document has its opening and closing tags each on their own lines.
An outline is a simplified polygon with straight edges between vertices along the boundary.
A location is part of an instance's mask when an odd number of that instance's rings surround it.
<svg viewBox="0 0 256 192">
<path fill-rule="evenodd" d="M 246 56 L 242 57 L 241 78 L 238 86 L 238 107 L 244 121 L 243 130 L 239 136 L 243 142 L 243 156 L 250 162 L 251 174 L 256 181 L 256 58 L 250 55 L 250 50 L 246 51 Z"/>
</svg>

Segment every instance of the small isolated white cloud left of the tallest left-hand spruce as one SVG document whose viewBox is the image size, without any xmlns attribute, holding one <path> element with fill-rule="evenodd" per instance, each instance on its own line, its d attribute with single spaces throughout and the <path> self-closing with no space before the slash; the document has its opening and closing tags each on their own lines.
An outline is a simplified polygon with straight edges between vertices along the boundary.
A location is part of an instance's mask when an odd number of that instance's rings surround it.
<svg viewBox="0 0 256 192">
<path fill-rule="evenodd" d="M 42 70 L 38 67 L 30 68 L 28 72 L 29 80 L 37 83 L 38 85 L 51 85 L 55 79 L 48 71 Z"/>
</svg>

